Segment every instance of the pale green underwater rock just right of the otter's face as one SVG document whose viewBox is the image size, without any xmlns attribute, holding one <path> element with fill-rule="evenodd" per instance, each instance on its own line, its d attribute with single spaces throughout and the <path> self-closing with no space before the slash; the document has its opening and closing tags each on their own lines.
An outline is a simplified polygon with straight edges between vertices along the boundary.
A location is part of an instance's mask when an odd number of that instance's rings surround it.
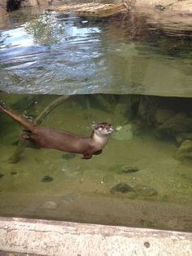
<svg viewBox="0 0 192 256">
<path fill-rule="evenodd" d="M 115 131 L 111 137 L 117 140 L 131 140 L 133 139 L 133 126 L 131 124 L 122 126 L 121 129 Z"/>
</svg>

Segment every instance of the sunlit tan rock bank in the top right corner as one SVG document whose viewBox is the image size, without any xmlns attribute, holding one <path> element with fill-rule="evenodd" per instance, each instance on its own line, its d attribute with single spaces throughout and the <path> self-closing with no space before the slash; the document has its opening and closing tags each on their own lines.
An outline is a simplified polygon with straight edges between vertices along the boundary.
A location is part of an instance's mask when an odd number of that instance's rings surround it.
<svg viewBox="0 0 192 256">
<path fill-rule="evenodd" d="M 149 24 L 160 25 L 170 33 L 191 33 L 191 0 L 123 0 L 129 11 L 142 12 Z M 133 13 L 132 12 L 132 15 Z"/>
</svg>

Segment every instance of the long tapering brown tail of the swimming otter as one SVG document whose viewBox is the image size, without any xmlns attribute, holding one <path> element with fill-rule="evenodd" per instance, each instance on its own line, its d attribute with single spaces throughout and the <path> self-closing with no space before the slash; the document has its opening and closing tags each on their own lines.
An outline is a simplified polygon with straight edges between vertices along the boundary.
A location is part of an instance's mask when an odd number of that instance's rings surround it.
<svg viewBox="0 0 192 256">
<path fill-rule="evenodd" d="M 35 125 L 31 121 L 28 121 L 24 117 L 20 117 L 19 115 L 17 115 L 16 113 L 12 112 L 11 110 L 3 107 L 2 104 L 0 104 L 0 109 L 4 113 L 7 113 L 8 116 L 10 116 L 13 119 L 15 119 L 15 121 L 18 121 L 22 126 L 26 127 L 28 130 L 30 130 L 32 132 L 35 130 Z"/>
</svg>

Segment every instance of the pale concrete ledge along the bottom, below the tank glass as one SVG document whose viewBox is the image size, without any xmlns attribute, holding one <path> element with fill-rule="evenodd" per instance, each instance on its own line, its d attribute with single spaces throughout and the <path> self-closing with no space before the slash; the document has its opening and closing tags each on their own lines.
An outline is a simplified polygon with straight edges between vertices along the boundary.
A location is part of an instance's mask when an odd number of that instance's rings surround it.
<svg viewBox="0 0 192 256">
<path fill-rule="evenodd" d="M 184 256 L 192 254 L 192 233 L 0 218 L 1 251 L 61 256 Z"/>
</svg>

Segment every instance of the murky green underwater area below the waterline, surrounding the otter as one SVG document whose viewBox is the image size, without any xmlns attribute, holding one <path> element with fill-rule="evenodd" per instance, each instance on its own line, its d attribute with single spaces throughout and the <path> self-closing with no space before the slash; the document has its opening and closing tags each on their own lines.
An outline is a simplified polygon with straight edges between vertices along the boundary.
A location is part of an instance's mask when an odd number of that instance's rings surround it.
<svg viewBox="0 0 192 256">
<path fill-rule="evenodd" d="M 33 119 L 57 97 L 1 95 Z M 0 113 L 0 215 L 191 232 L 191 104 L 138 95 L 70 96 L 43 126 L 79 135 L 89 135 L 94 122 L 116 126 L 103 153 L 87 161 L 29 144 L 20 161 L 9 163 L 21 128 Z"/>
</svg>

